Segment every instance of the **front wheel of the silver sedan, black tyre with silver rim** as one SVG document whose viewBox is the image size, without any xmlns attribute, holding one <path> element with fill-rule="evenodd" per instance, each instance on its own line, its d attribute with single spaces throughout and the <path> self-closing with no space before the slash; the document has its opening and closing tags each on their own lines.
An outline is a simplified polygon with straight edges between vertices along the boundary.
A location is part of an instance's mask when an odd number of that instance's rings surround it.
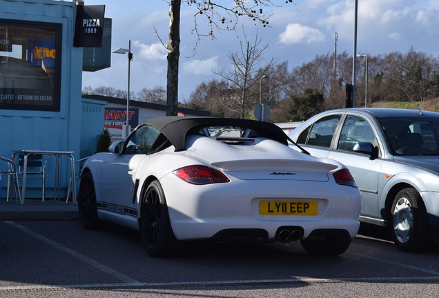
<svg viewBox="0 0 439 298">
<path fill-rule="evenodd" d="M 404 252 L 428 250 L 433 241 L 427 210 L 419 193 L 413 188 L 404 188 L 393 199 L 391 235 L 396 246 Z"/>
</svg>

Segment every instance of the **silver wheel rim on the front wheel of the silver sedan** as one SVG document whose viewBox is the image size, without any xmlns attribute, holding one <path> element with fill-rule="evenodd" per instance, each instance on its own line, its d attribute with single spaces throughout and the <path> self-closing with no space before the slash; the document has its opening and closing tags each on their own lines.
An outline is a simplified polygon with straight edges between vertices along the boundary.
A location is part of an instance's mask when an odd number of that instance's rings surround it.
<svg viewBox="0 0 439 298">
<path fill-rule="evenodd" d="M 407 243 L 413 231 L 413 209 L 410 201 L 402 197 L 393 209 L 393 230 L 400 243 Z"/>
</svg>

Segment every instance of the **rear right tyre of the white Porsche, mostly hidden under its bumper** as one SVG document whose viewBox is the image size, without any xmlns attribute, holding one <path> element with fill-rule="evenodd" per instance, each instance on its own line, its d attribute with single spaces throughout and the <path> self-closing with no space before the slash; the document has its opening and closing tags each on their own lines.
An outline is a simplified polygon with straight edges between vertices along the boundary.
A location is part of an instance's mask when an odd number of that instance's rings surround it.
<svg viewBox="0 0 439 298">
<path fill-rule="evenodd" d="M 302 247 L 310 255 L 318 256 L 335 256 L 345 252 L 351 244 L 351 239 L 333 239 L 324 240 L 300 240 Z"/>
</svg>

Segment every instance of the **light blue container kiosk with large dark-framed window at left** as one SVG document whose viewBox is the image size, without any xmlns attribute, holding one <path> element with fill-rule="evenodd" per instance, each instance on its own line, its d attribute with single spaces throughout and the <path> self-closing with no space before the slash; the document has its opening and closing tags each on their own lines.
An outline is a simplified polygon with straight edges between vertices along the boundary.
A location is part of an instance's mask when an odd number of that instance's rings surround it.
<svg viewBox="0 0 439 298">
<path fill-rule="evenodd" d="M 73 46 L 76 10 L 72 1 L 0 0 L 2 157 L 34 149 L 74 151 L 79 158 L 83 49 Z M 48 157 L 46 197 L 53 197 L 53 160 Z M 65 188 L 68 161 L 60 162 Z M 0 170 L 4 167 L 2 163 Z M 32 183 L 28 185 L 26 197 L 40 197 L 32 193 Z M 38 185 L 41 192 L 41 181 Z"/>
</svg>

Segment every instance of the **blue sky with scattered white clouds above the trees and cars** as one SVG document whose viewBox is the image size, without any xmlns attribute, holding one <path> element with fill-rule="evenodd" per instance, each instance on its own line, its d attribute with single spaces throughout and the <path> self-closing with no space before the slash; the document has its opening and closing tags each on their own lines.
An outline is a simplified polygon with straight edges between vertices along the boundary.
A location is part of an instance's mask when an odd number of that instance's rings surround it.
<svg viewBox="0 0 439 298">
<path fill-rule="evenodd" d="M 218 0 L 231 7 L 230 0 Z M 285 3 L 272 0 L 279 7 L 266 8 L 270 27 L 262 28 L 242 19 L 237 32 L 217 33 L 215 40 L 202 37 L 193 56 L 196 36 L 193 12 L 182 7 L 180 27 L 179 101 L 184 102 L 202 83 L 215 78 L 212 70 L 228 69 L 227 55 L 240 51 L 244 26 L 246 36 L 254 41 L 256 30 L 262 44 L 269 44 L 264 57 L 288 61 L 289 70 L 301 66 L 318 54 L 332 53 L 334 33 L 338 32 L 337 52 L 353 54 L 354 0 L 303 0 Z M 168 3 L 164 0 L 85 0 L 85 5 L 106 6 L 105 17 L 113 19 L 112 50 L 128 48 L 131 40 L 130 90 L 166 87 L 166 54 L 155 34 L 168 40 Z M 439 0 L 359 0 L 357 54 L 389 54 L 414 50 L 438 57 Z M 199 21 L 199 30 L 207 25 Z M 112 54 L 111 67 L 97 72 L 83 72 L 83 88 L 113 86 L 126 90 L 128 62 L 126 54 Z"/>
</svg>

